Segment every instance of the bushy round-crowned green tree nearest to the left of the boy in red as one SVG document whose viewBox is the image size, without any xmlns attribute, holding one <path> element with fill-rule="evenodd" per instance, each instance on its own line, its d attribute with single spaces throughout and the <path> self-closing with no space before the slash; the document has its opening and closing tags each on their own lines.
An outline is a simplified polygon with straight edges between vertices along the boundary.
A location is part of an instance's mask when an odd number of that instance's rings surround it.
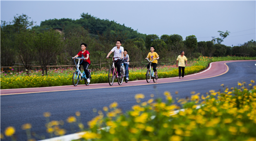
<svg viewBox="0 0 256 141">
<path fill-rule="evenodd" d="M 42 67 L 42 75 L 44 76 L 44 71 L 46 71 L 47 75 L 47 65 L 61 52 L 63 36 L 59 32 L 51 29 L 38 34 L 34 39 L 34 43 L 36 50 L 35 57 Z"/>
</svg>

